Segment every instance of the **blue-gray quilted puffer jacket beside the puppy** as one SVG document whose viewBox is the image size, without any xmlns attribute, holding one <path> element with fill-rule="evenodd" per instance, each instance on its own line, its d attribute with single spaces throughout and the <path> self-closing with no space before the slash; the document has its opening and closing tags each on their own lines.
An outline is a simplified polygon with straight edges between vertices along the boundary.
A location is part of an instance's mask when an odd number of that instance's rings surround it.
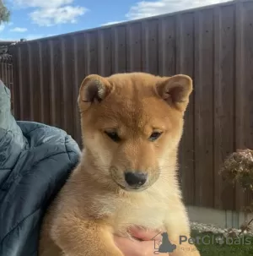
<svg viewBox="0 0 253 256">
<path fill-rule="evenodd" d="M 37 255 L 42 217 L 79 155 L 61 129 L 16 122 L 0 80 L 0 256 Z"/>
</svg>

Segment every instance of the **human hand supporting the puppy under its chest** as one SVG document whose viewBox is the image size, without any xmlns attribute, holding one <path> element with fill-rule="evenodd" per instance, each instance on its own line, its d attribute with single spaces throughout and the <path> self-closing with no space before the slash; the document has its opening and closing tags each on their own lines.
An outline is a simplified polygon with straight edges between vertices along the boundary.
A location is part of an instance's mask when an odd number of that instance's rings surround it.
<svg viewBox="0 0 253 256">
<path fill-rule="evenodd" d="M 145 231 L 134 227 L 130 230 L 132 237 L 137 239 L 129 239 L 127 237 L 115 236 L 116 246 L 120 248 L 125 256 L 154 256 L 154 241 L 151 240 L 157 236 L 159 231 Z M 161 235 L 154 238 L 155 241 L 161 241 Z"/>
</svg>

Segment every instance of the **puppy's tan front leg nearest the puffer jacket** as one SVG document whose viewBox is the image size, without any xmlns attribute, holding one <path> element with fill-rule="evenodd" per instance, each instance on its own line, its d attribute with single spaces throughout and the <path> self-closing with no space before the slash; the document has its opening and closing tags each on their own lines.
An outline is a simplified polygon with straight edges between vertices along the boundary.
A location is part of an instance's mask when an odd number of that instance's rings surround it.
<svg viewBox="0 0 253 256">
<path fill-rule="evenodd" d="M 103 221 L 83 221 L 73 215 L 57 218 L 51 238 L 67 256 L 123 256 L 116 247 L 110 226 Z"/>
</svg>

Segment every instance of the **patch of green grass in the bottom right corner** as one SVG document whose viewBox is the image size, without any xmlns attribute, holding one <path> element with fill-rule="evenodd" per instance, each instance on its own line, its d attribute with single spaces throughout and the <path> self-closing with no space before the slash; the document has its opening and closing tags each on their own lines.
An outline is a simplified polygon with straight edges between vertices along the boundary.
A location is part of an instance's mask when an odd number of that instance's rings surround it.
<svg viewBox="0 0 253 256">
<path fill-rule="evenodd" d="M 215 242 L 215 237 L 220 237 L 220 235 L 211 233 L 191 231 L 191 237 L 202 237 L 200 242 L 196 244 L 202 256 L 253 256 L 253 237 L 244 235 L 240 239 L 236 237 L 229 238 L 228 243 L 224 242 L 223 244 Z"/>
</svg>

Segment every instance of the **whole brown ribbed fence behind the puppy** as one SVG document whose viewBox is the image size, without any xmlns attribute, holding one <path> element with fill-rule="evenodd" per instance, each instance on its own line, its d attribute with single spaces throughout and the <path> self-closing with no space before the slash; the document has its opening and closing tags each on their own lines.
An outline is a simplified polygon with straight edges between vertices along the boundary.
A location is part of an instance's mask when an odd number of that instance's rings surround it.
<svg viewBox="0 0 253 256">
<path fill-rule="evenodd" d="M 252 195 L 218 175 L 253 148 L 253 2 L 234 1 L 13 46 L 15 116 L 63 128 L 81 145 L 78 88 L 88 74 L 188 74 L 180 144 L 186 204 L 240 210 Z"/>
</svg>

